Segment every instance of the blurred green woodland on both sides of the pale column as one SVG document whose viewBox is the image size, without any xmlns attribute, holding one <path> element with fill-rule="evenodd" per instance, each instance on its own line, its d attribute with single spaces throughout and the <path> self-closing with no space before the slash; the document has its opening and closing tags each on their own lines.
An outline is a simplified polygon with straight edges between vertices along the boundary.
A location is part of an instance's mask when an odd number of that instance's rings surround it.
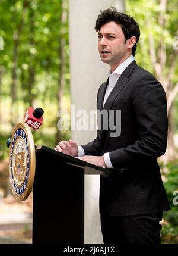
<svg viewBox="0 0 178 256">
<path fill-rule="evenodd" d="M 118 0 L 119 1 L 119 0 Z M 164 86 L 169 115 L 169 143 L 158 159 L 171 211 L 164 213 L 163 243 L 178 242 L 178 8 L 177 0 L 126 0 L 126 13 L 138 21 L 141 38 L 136 62 Z M 1 0 L 0 36 L 0 189 L 8 173 L 5 141 L 28 107 L 42 107 L 43 126 L 33 131 L 36 145 L 53 148 L 70 138 L 59 133 L 57 112 L 70 109 L 68 0 Z M 77 61 L 77 60 L 76 60 Z M 99 86 L 99 85 L 98 85 Z M 5 165 L 6 166 L 6 165 Z M 8 174 L 7 174 L 8 176 Z"/>
</svg>

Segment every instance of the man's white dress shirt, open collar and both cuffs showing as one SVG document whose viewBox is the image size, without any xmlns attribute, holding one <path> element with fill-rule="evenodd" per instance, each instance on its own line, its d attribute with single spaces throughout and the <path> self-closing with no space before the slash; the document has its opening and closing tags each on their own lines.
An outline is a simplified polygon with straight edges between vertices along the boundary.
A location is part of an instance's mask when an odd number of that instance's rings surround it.
<svg viewBox="0 0 178 256">
<path fill-rule="evenodd" d="M 113 71 L 113 73 L 111 73 L 111 70 L 109 70 L 109 72 L 107 74 L 107 76 L 109 76 L 109 84 L 107 85 L 106 93 L 104 95 L 103 107 L 104 107 L 104 104 L 105 104 L 108 96 L 112 92 L 112 89 L 116 85 L 116 82 L 119 79 L 120 75 L 123 73 L 123 71 L 126 69 L 126 67 L 128 67 L 128 65 L 131 64 L 132 61 L 134 61 L 134 60 L 135 60 L 135 57 L 133 55 L 131 55 L 129 58 L 127 58 L 125 61 L 123 61 L 123 63 L 121 63 L 116 68 L 116 70 Z M 84 155 L 85 155 L 84 149 L 81 146 L 78 146 L 78 157 L 84 157 Z M 107 168 L 112 168 L 113 166 L 110 161 L 109 152 L 104 153 L 103 157 L 104 157 L 104 162 L 105 162 Z"/>
</svg>

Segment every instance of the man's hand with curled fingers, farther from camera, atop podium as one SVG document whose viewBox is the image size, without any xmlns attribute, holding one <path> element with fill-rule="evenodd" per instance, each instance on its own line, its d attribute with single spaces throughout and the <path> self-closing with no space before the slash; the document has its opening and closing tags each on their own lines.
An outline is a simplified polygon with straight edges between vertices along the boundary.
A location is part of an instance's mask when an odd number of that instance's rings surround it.
<svg viewBox="0 0 178 256">
<path fill-rule="evenodd" d="M 64 154 L 72 155 L 72 157 L 77 157 L 78 155 L 78 145 L 72 139 L 69 139 L 69 141 L 59 141 L 54 149 Z"/>
</svg>

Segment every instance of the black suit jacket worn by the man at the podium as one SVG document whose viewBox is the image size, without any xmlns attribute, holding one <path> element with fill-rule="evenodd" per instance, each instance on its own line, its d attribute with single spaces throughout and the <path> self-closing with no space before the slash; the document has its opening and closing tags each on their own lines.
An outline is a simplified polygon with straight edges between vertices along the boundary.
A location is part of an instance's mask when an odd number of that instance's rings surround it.
<svg viewBox="0 0 178 256">
<path fill-rule="evenodd" d="M 98 110 L 103 110 L 106 87 L 105 82 L 98 90 Z M 127 216 L 170 209 L 157 163 L 167 146 L 166 108 L 158 80 L 135 61 L 129 64 L 104 104 L 108 111 L 121 110 L 120 136 L 101 129 L 94 141 L 82 145 L 85 155 L 110 152 L 112 174 L 100 176 L 100 213 Z"/>
</svg>

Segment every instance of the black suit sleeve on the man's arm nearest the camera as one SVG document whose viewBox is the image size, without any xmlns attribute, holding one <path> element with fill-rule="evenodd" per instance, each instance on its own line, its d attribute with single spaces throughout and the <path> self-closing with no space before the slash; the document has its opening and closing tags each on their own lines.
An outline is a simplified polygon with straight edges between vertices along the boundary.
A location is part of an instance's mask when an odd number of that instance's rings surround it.
<svg viewBox="0 0 178 256">
<path fill-rule="evenodd" d="M 157 158 L 166 151 L 167 102 L 163 86 L 148 74 L 132 85 L 131 102 L 139 139 L 110 152 L 113 167 L 140 157 Z"/>
</svg>

